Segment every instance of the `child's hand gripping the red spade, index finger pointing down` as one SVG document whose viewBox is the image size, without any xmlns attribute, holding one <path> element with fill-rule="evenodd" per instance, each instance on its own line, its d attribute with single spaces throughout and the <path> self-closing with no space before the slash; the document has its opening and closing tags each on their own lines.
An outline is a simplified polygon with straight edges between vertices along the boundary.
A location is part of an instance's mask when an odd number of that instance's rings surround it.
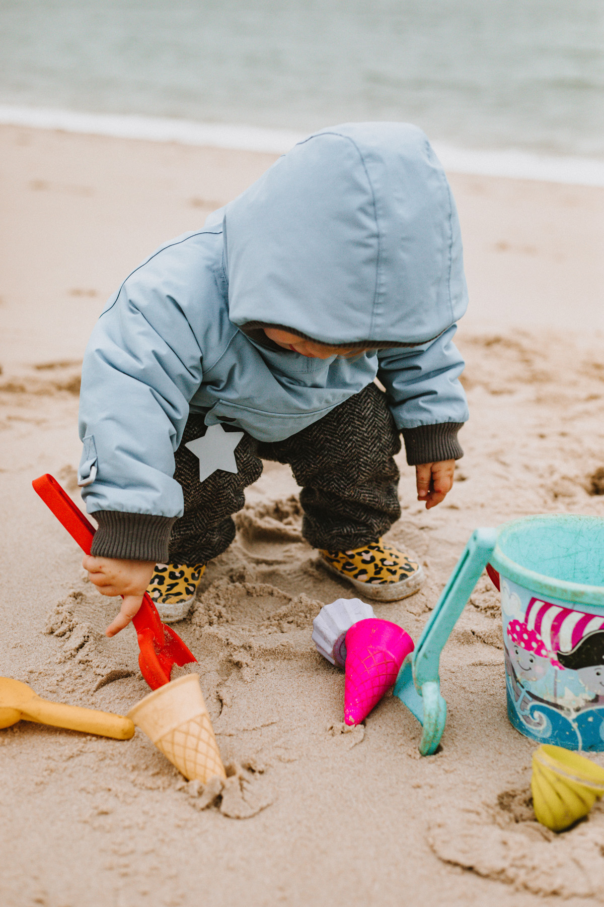
<svg viewBox="0 0 604 907">
<path fill-rule="evenodd" d="M 120 613 L 105 630 L 107 636 L 115 636 L 120 629 L 128 627 L 142 604 L 147 591 L 155 561 L 118 561 L 116 558 L 93 558 L 84 555 L 81 566 L 88 571 L 88 577 L 101 595 L 123 595 Z"/>
</svg>

